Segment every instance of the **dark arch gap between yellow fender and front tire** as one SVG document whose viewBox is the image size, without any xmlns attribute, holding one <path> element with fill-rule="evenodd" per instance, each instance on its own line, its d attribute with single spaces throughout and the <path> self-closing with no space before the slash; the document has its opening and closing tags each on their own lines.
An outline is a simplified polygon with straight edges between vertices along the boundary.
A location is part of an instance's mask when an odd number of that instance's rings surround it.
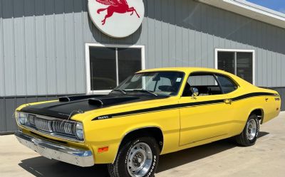
<svg viewBox="0 0 285 177">
<path fill-rule="evenodd" d="M 130 129 L 127 132 L 125 132 L 124 136 L 122 137 L 122 139 L 120 141 L 118 149 L 116 151 L 115 159 L 118 156 L 118 152 L 119 152 L 120 148 L 123 146 L 123 144 L 125 144 L 126 141 L 128 141 L 130 139 L 134 139 L 134 138 L 139 137 L 139 136 L 143 136 L 143 135 L 153 136 L 156 139 L 157 144 L 160 147 L 160 152 L 162 151 L 163 146 L 164 146 L 164 136 L 163 136 L 162 129 L 158 126 L 139 127 L 139 128 L 135 128 L 135 129 Z M 113 163 L 114 163 L 115 159 L 113 160 Z"/>
</svg>

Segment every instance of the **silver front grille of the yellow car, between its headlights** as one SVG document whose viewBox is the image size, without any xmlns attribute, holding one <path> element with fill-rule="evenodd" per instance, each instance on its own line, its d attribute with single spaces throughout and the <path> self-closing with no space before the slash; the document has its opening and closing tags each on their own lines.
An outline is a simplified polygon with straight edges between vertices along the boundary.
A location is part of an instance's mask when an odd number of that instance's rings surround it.
<svg viewBox="0 0 285 177">
<path fill-rule="evenodd" d="M 33 114 L 28 114 L 29 127 L 44 132 L 68 134 L 76 136 L 75 123 L 66 120 L 43 119 Z"/>
</svg>

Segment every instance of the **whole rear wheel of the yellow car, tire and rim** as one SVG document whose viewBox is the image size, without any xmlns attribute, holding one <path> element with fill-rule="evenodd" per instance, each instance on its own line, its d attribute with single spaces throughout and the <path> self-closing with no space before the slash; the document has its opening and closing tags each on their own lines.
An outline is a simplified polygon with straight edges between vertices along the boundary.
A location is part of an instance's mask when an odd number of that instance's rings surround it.
<svg viewBox="0 0 285 177">
<path fill-rule="evenodd" d="M 242 146 L 252 146 L 257 141 L 259 134 L 259 119 L 256 114 L 251 114 L 247 119 L 247 124 L 241 134 L 235 136 L 237 144 Z"/>
</svg>

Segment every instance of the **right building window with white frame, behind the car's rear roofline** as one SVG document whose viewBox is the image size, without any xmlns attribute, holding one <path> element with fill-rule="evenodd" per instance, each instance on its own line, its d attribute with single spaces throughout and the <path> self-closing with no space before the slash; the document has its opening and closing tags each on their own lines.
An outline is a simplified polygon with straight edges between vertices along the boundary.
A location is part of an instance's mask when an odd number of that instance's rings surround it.
<svg viewBox="0 0 285 177">
<path fill-rule="evenodd" d="M 215 68 L 254 84 L 254 50 L 215 50 Z"/>
</svg>

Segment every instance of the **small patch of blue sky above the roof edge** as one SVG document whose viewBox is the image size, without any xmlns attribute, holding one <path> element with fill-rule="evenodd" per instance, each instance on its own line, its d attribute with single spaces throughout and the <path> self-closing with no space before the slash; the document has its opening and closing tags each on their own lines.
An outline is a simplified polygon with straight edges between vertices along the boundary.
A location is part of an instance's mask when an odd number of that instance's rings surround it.
<svg viewBox="0 0 285 177">
<path fill-rule="evenodd" d="M 285 14 L 285 0 L 247 0 Z"/>
</svg>

